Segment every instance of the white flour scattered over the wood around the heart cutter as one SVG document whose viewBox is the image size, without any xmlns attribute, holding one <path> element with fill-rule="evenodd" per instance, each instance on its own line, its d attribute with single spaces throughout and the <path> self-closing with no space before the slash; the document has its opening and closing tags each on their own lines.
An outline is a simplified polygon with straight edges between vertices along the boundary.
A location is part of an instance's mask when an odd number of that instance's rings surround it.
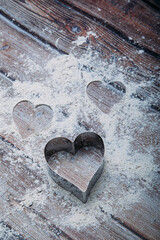
<svg viewBox="0 0 160 240">
<path fill-rule="evenodd" d="M 79 37 L 75 44 L 80 45 L 85 41 L 86 38 Z M 24 56 L 19 58 L 23 60 Z M 28 57 L 24 62 L 26 72 L 41 71 L 42 66 L 33 59 Z M 88 50 L 79 59 L 70 54 L 57 55 L 48 60 L 45 65 L 47 77 L 43 81 L 20 82 L 16 79 L 7 88 L 1 86 L 0 131 L 5 136 L 12 134 L 15 145 L 23 146 L 21 151 L 8 151 L 5 160 L 11 165 L 24 161 L 26 166 L 36 169 L 43 178 L 43 184 L 37 180 L 37 184 L 41 184 L 39 188 L 26 190 L 19 199 L 19 206 L 15 206 L 13 211 L 21 211 L 24 207 L 38 207 L 39 211 L 43 211 L 46 202 L 51 201 L 53 209 L 48 213 L 50 221 L 64 228 L 83 229 L 86 226 L 98 226 L 98 218 L 109 221 L 110 218 L 106 216 L 123 212 L 130 205 L 139 202 L 143 195 L 139 181 L 151 188 L 157 173 L 154 151 L 158 151 L 158 145 L 154 143 L 152 133 L 158 126 L 158 117 L 157 113 L 146 114 L 149 99 L 142 102 L 132 97 L 136 89 L 150 86 L 151 83 L 128 82 L 125 74 L 119 70 L 114 61 L 102 61 L 97 53 Z M 114 105 L 109 114 L 101 112 L 86 94 L 86 86 L 96 80 L 104 84 L 120 81 L 126 87 L 124 98 Z M 35 105 L 47 104 L 54 112 L 48 129 L 26 139 L 21 138 L 12 119 L 13 107 L 22 100 L 31 101 Z M 103 137 L 105 167 L 88 202 L 83 204 L 48 176 L 43 150 L 45 144 L 54 137 L 68 137 L 73 141 L 78 134 L 86 131 L 86 126 L 88 131 L 94 131 Z M 138 135 L 145 136 L 146 126 L 147 147 L 143 146 L 145 141 L 139 141 L 135 134 L 138 132 Z M 23 155 L 30 158 L 22 160 Z M 57 203 L 60 208 L 65 207 L 61 217 L 53 217 L 52 214 Z M 31 213 L 31 217 L 34 217 L 34 213 Z"/>
</svg>

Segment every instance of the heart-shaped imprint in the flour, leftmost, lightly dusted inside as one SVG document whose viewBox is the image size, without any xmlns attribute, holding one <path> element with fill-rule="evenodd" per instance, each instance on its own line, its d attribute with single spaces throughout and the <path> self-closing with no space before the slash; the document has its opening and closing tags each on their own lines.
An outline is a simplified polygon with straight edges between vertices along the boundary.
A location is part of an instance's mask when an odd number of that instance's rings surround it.
<svg viewBox="0 0 160 240">
<path fill-rule="evenodd" d="M 46 128 L 52 117 L 52 108 L 44 104 L 34 106 L 29 101 L 21 101 L 13 109 L 13 119 L 22 138 Z"/>
</svg>

